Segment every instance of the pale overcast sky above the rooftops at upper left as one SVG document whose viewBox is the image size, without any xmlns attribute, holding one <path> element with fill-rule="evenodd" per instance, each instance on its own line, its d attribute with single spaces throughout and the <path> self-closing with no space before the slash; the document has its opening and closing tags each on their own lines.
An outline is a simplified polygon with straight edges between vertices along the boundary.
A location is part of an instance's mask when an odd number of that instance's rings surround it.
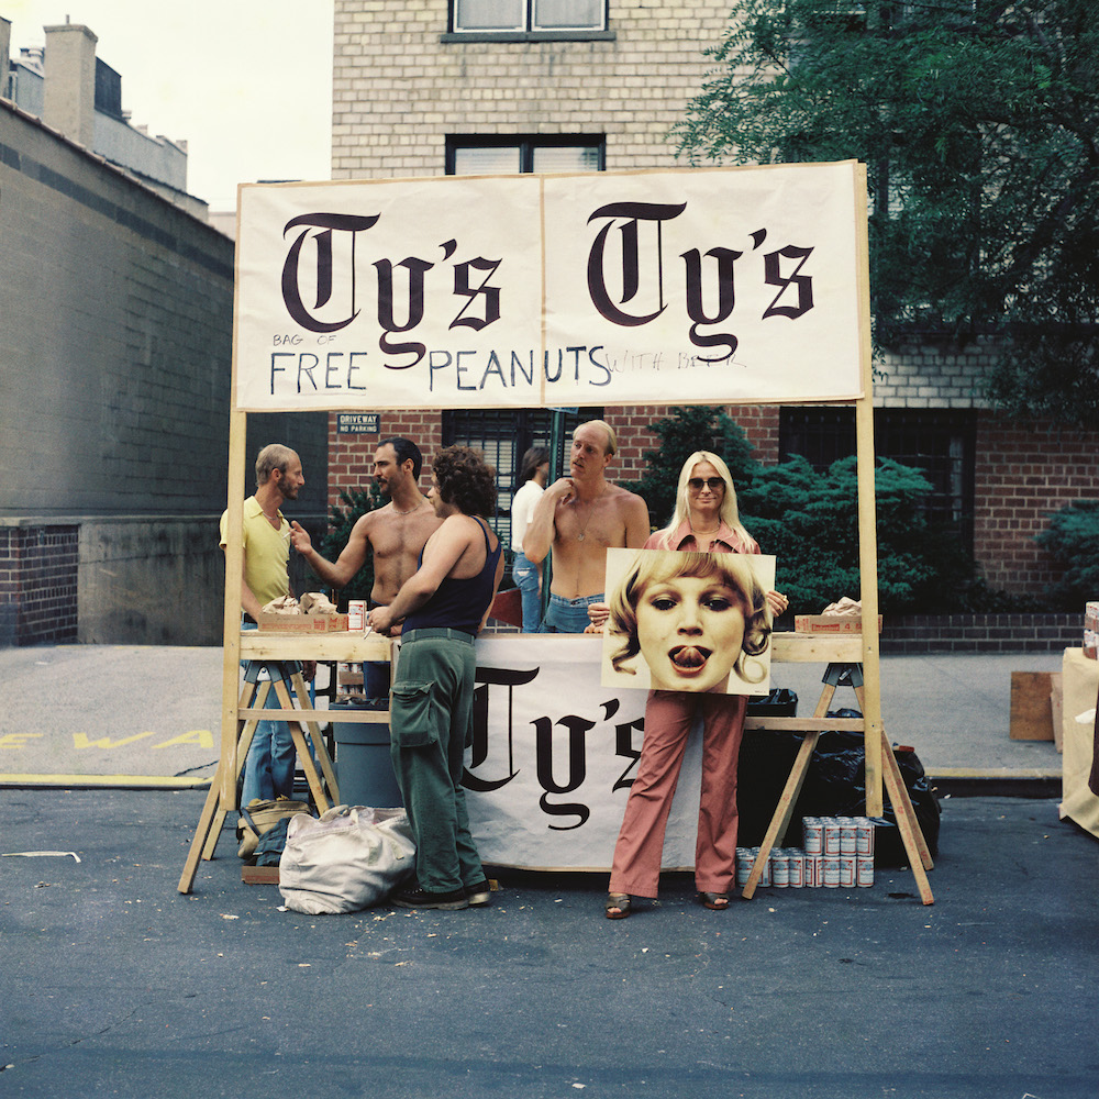
<svg viewBox="0 0 1099 1099">
<path fill-rule="evenodd" d="M 0 0 L 11 53 L 82 23 L 122 76 L 122 107 L 188 143 L 187 189 L 212 210 L 236 185 L 328 179 L 333 0 Z"/>
</svg>

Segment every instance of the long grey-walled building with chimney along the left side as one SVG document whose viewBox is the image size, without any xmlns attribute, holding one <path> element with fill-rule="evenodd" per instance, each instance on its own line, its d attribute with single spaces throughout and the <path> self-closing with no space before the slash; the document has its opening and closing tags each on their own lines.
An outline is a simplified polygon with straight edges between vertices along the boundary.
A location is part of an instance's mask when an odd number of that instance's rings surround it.
<svg viewBox="0 0 1099 1099">
<path fill-rule="evenodd" d="M 7 98 L 26 68 L 8 32 L 0 19 L 0 645 L 214 644 L 233 243 L 185 177 L 154 188 L 147 157 L 92 152 L 95 34 L 47 29 L 40 118 Z M 323 414 L 249 420 L 251 453 L 276 437 L 302 453 L 302 518 L 320 520 Z"/>
</svg>

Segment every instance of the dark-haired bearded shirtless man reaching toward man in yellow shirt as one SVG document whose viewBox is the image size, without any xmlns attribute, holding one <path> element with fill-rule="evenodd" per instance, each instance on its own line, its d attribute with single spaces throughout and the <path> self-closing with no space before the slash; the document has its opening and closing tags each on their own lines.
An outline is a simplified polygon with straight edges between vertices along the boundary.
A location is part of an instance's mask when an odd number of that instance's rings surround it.
<svg viewBox="0 0 1099 1099">
<path fill-rule="evenodd" d="M 309 535 L 293 523 L 290 542 L 325 584 L 344 587 L 374 552 L 374 588 L 370 602 L 388 607 L 401 585 L 419 567 L 420 551 L 442 520 L 419 488 L 423 456 L 415 443 L 395 436 L 382 441 L 374 454 L 374 477 L 389 503 L 368 511 L 352 528 L 351 537 L 335 563 L 325 560 Z M 386 688 L 388 692 L 388 685 Z"/>
</svg>

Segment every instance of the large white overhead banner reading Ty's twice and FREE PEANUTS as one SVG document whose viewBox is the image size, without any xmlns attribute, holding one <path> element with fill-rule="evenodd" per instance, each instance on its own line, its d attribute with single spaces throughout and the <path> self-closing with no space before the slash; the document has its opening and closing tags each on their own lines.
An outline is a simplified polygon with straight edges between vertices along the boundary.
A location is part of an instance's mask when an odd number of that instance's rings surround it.
<svg viewBox="0 0 1099 1099">
<path fill-rule="evenodd" d="M 243 186 L 234 407 L 853 399 L 858 167 Z"/>
</svg>

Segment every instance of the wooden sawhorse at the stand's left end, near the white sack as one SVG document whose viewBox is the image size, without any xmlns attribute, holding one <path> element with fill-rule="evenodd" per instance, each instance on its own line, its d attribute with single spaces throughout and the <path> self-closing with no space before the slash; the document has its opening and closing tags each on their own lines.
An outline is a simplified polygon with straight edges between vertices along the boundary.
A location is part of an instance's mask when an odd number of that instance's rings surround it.
<svg viewBox="0 0 1099 1099">
<path fill-rule="evenodd" d="M 258 666 L 258 664 L 254 663 L 249 667 L 255 668 Z M 271 660 L 263 664 L 263 667 L 268 669 L 270 679 L 260 680 L 257 678 L 255 682 L 252 682 L 246 678 L 244 689 L 241 692 L 241 702 L 237 708 L 237 742 L 232 786 L 234 791 L 233 797 L 231 800 L 222 797 L 224 771 L 230 766 L 229 762 L 222 757 L 218 764 L 218 770 L 214 773 L 213 781 L 210 785 L 210 792 L 207 795 L 206 804 L 202 807 L 202 813 L 195 830 L 195 837 L 191 840 L 187 862 L 184 864 L 184 873 L 179 879 L 180 892 L 190 892 L 191 884 L 195 881 L 195 874 L 198 870 L 199 859 L 213 858 L 214 848 L 218 846 L 218 840 L 225 824 L 225 817 L 231 809 L 235 810 L 237 808 L 236 784 L 241 778 L 244 762 L 248 756 L 248 748 L 252 745 L 253 736 L 255 736 L 256 725 L 260 721 L 285 721 L 290 726 L 290 737 L 293 741 L 298 762 L 301 764 L 301 769 L 306 773 L 309 792 L 313 796 L 313 802 L 318 810 L 324 812 L 330 808 L 329 799 L 324 792 L 325 784 L 333 800 L 337 803 L 340 801 L 340 787 L 336 785 L 332 759 L 329 756 L 328 748 L 324 746 L 324 737 L 321 735 L 320 725 L 308 721 L 306 715 L 300 713 L 300 710 L 306 710 L 310 713 L 314 713 L 315 711 L 310 703 L 309 691 L 306 688 L 306 681 L 301 677 L 301 671 L 291 670 L 299 666 L 297 664 Z M 287 690 L 287 681 L 293 686 L 293 692 L 298 700 L 297 708 L 290 698 L 289 690 Z M 275 689 L 279 701 L 279 709 L 277 710 L 267 709 L 265 706 L 271 688 Z M 297 717 L 295 717 L 296 714 Z M 324 776 L 323 784 L 321 776 L 317 774 L 317 768 L 313 766 L 313 757 L 310 755 L 309 745 L 306 743 L 307 736 L 321 765 L 321 771 Z"/>
</svg>

